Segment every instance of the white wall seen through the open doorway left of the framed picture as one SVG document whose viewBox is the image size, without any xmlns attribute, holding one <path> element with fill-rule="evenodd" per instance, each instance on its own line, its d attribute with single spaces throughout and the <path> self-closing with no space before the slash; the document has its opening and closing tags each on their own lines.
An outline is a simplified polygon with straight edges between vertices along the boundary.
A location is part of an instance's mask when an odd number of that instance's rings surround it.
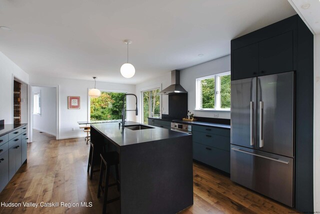
<svg viewBox="0 0 320 214">
<path fill-rule="evenodd" d="M 40 93 L 40 115 L 33 114 L 32 128 L 53 136 L 56 135 L 56 88 L 32 87 L 34 93 Z M 33 102 L 33 100 L 30 99 Z"/>
</svg>

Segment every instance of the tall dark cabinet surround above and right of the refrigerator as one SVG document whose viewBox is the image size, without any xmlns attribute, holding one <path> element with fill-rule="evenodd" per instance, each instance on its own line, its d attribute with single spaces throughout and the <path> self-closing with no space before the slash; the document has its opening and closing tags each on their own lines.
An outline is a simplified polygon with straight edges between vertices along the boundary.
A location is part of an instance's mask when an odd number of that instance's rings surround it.
<svg viewBox="0 0 320 214">
<path fill-rule="evenodd" d="M 294 207 L 313 211 L 313 35 L 295 15 L 231 40 L 231 80 L 288 71 L 296 80 Z"/>
</svg>

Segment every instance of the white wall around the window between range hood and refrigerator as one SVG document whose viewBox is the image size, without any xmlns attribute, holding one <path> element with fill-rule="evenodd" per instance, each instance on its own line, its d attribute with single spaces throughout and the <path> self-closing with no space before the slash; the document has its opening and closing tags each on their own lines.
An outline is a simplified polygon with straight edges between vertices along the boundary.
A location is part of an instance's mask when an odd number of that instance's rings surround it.
<svg viewBox="0 0 320 214">
<path fill-rule="evenodd" d="M 195 109 L 195 79 L 218 73 L 228 72 L 230 68 L 230 55 L 209 62 L 195 65 L 180 71 L 180 84 L 188 92 L 188 110 L 198 117 L 213 117 L 230 119 L 230 111 L 201 111 Z"/>
</svg>

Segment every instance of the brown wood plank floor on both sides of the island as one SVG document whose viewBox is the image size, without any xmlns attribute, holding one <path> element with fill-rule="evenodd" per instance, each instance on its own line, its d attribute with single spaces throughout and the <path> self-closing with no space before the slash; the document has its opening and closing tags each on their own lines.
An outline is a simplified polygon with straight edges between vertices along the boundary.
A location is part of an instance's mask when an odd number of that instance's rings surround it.
<svg viewBox="0 0 320 214">
<path fill-rule="evenodd" d="M 98 172 L 89 180 L 86 167 L 89 145 L 83 138 L 55 140 L 34 131 L 23 164 L 0 193 L 1 202 L 92 202 L 92 207 L 1 207 L 0 213 L 100 213 L 102 198 L 96 197 Z M 198 163 L 193 164 L 194 204 L 180 213 L 293 213 L 260 194 Z M 116 187 L 111 189 L 117 194 Z M 119 202 L 108 204 L 118 213 Z"/>
</svg>

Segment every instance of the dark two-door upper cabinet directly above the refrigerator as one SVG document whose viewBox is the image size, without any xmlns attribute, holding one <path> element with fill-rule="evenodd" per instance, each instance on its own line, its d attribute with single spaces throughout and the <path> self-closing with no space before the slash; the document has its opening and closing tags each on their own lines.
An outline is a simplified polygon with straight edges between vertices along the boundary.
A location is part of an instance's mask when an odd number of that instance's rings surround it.
<svg viewBox="0 0 320 214">
<path fill-rule="evenodd" d="M 296 21 L 290 17 L 231 40 L 231 80 L 296 70 Z"/>
</svg>

